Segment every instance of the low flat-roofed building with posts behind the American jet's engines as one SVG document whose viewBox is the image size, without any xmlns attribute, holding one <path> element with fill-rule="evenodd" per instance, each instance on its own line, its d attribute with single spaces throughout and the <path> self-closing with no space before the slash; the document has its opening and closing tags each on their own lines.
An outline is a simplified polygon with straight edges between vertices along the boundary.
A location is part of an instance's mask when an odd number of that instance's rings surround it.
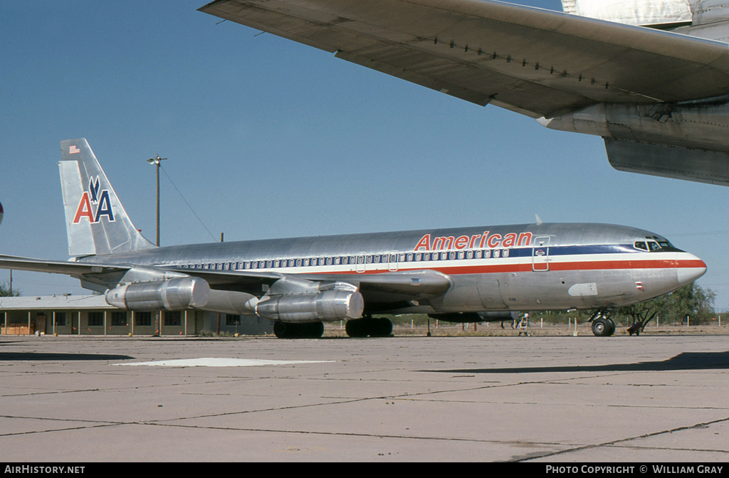
<svg viewBox="0 0 729 478">
<path fill-rule="evenodd" d="M 136 312 L 106 303 L 103 295 L 0 297 L 3 335 L 184 335 L 273 333 L 273 324 L 258 316 L 203 310 Z"/>
</svg>

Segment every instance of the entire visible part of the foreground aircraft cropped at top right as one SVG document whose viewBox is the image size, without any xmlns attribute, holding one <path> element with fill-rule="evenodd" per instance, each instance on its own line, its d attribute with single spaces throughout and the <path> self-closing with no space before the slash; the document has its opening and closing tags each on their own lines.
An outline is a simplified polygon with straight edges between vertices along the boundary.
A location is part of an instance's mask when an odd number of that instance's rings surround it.
<svg viewBox="0 0 729 478">
<path fill-rule="evenodd" d="M 724 0 L 216 0 L 216 17 L 554 130 L 621 171 L 729 185 Z"/>
</svg>

